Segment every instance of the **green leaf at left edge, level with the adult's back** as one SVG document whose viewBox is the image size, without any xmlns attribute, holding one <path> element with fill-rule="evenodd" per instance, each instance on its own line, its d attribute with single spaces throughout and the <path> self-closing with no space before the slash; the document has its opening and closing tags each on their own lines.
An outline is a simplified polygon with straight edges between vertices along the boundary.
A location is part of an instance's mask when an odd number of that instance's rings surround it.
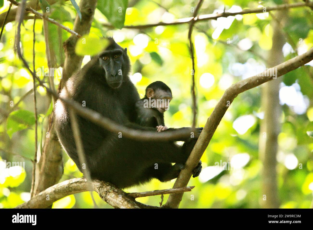
<svg viewBox="0 0 313 230">
<path fill-rule="evenodd" d="M 35 124 L 35 115 L 28 110 L 15 110 L 8 116 L 7 132 L 10 138 L 13 133 L 27 129 Z"/>
</svg>

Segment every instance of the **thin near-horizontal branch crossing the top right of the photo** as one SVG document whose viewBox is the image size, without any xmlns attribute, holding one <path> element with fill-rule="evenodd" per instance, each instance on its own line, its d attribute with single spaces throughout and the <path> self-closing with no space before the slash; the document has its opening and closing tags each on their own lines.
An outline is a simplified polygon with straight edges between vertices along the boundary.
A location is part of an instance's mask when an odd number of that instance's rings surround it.
<svg viewBox="0 0 313 230">
<path fill-rule="evenodd" d="M 274 7 L 266 7 L 266 12 L 270 12 L 273 10 L 284 10 L 289 8 L 298 8 L 298 7 L 313 7 L 313 2 L 306 2 L 306 3 L 293 3 L 293 4 L 282 4 Z M 223 12 L 223 13 L 212 13 L 212 14 L 203 14 L 199 15 L 197 18 L 189 17 L 189 18 L 180 18 L 173 22 L 165 23 L 165 22 L 159 22 L 154 24 L 144 24 L 144 25 L 129 25 L 124 26 L 124 28 L 127 29 L 146 29 L 150 27 L 156 27 L 156 26 L 170 26 L 170 25 L 180 25 L 185 23 L 190 23 L 192 20 L 197 22 L 207 21 L 207 20 L 216 20 L 221 17 L 228 17 L 228 16 L 235 16 L 238 14 L 249 14 L 249 13 L 264 13 L 263 8 L 254 8 L 254 9 L 246 9 L 242 10 L 240 12 L 231 13 L 231 12 Z M 114 29 L 115 27 L 108 23 L 103 23 L 103 26 L 107 28 Z"/>
</svg>

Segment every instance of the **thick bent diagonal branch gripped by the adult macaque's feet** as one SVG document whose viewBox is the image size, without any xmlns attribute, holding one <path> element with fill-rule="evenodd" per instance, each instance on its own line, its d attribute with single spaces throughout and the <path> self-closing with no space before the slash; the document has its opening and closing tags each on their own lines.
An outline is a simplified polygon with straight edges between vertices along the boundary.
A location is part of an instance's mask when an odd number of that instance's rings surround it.
<svg viewBox="0 0 313 230">
<path fill-rule="evenodd" d="M 277 76 L 279 77 L 294 69 L 299 68 L 300 66 L 310 62 L 312 59 L 313 59 L 313 48 L 309 49 L 306 53 L 301 54 L 288 61 L 285 61 L 273 68 L 275 69 L 277 68 L 276 73 Z M 269 74 L 267 74 L 267 71 L 265 70 L 263 73 L 260 73 L 256 76 L 241 80 L 233 84 L 225 91 L 222 98 L 219 100 L 218 104 L 214 108 L 212 114 L 209 116 L 203 128 L 203 131 L 201 132 L 198 138 L 196 145 L 194 146 L 190 156 L 187 159 L 186 167 L 180 172 L 173 188 L 187 186 L 188 181 L 190 180 L 190 177 L 192 175 L 192 170 L 197 166 L 203 152 L 206 150 L 209 142 L 211 141 L 211 138 L 216 128 L 218 127 L 226 110 L 228 109 L 229 105 L 233 102 L 235 97 L 237 97 L 238 94 L 248 89 L 252 89 L 254 87 L 259 86 L 260 84 L 272 80 L 273 77 L 268 75 Z M 181 200 L 182 193 L 171 194 L 167 200 L 167 203 L 164 206 L 177 208 Z"/>
</svg>

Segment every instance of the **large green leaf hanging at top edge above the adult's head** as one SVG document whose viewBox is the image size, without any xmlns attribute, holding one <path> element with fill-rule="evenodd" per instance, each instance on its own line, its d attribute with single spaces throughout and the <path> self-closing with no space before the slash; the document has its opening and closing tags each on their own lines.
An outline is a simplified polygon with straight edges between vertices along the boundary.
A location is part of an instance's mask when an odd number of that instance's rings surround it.
<svg viewBox="0 0 313 230">
<path fill-rule="evenodd" d="M 98 0 L 97 8 L 118 29 L 123 28 L 125 22 L 127 0 Z"/>
</svg>

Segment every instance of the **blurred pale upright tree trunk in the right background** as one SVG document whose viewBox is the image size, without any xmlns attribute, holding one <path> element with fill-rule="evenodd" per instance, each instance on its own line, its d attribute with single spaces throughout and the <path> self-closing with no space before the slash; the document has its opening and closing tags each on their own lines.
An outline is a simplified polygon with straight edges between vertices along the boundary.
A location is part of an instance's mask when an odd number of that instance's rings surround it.
<svg viewBox="0 0 313 230">
<path fill-rule="evenodd" d="M 287 11 L 276 13 L 275 18 L 283 20 Z M 282 52 L 285 36 L 282 34 L 280 22 L 272 19 L 273 44 L 269 51 L 268 66 L 272 67 L 284 62 Z M 277 137 L 280 133 L 281 106 L 279 104 L 279 86 L 281 78 L 266 82 L 262 86 L 262 108 L 264 119 L 261 121 L 259 137 L 259 155 L 263 162 L 262 170 L 262 203 L 263 208 L 279 208 L 276 155 L 278 151 Z"/>
</svg>

